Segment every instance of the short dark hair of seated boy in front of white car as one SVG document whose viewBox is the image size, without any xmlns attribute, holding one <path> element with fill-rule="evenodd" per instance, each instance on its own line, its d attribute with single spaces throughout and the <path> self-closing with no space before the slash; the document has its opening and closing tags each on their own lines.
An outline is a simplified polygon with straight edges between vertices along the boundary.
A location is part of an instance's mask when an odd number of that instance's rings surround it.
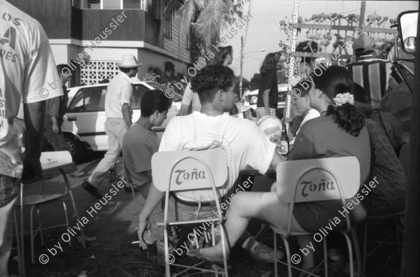
<svg viewBox="0 0 420 277">
<path fill-rule="evenodd" d="M 141 116 L 148 118 L 155 111 L 163 113 L 169 110 L 171 106 L 172 99 L 166 97 L 165 92 L 162 92 L 162 90 L 146 90 L 140 102 Z"/>
</svg>

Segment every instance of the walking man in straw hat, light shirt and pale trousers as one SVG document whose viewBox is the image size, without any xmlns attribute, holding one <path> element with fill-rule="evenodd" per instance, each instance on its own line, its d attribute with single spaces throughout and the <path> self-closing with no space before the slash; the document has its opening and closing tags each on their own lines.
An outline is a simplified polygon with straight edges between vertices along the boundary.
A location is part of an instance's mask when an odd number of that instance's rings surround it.
<svg viewBox="0 0 420 277">
<path fill-rule="evenodd" d="M 105 133 L 108 135 L 108 151 L 99 162 L 92 175 L 83 182 L 82 187 L 94 197 L 102 198 L 97 186 L 104 181 L 106 173 L 116 164 L 121 153 L 123 138 L 132 125 L 132 83 L 130 78 L 137 75 L 137 63 L 134 55 L 123 55 L 117 64 L 120 73 L 108 85 L 105 96 Z"/>
</svg>

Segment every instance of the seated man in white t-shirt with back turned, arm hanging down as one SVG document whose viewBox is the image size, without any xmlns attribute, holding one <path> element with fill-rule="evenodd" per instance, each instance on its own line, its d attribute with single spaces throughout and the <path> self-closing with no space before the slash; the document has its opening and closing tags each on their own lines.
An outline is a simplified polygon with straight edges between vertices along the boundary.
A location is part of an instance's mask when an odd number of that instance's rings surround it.
<svg viewBox="0 0 420 277">
<path fill-rule="evenodd" d="M 228 180 L 219 190 L 221 195 L 232 193 L 239 171 L 246 166 L 252 166 L 262 174 L 270 164 L 276 168 L 283 160 L 275 151 L 276 145 L 253 122 L 224 114 L 235 105 L 235 76 L 232 69 L 222 65 L 206 66 L 193 78 L 191 85 L 200 97 L 202 108 L 200 112 L 173 118 L 163 134 L 159 151 L 223 148 L 228 158 Z M 139 216 L 138 234 L 142 248 L 146 248 L 143 233 L 148 216 L 164 195 L 165 192 L 151 185 Z M 169 198 L 168 218 L 209 218 L 217 212 L 214 200 L 211 190 L 176 192 Z M 163 232 L 159 239 L 163 240 Z"/>
</svg>

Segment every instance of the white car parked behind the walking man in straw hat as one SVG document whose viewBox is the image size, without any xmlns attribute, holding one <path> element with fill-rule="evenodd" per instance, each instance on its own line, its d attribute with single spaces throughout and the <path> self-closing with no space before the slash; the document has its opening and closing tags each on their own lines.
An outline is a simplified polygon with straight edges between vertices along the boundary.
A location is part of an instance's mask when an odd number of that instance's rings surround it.
<svg viewBox="0 0 420 277">
<path fill-rule="evenodd" d="M 69 89 L 69 104 L 64 115 L 62 132 L 73 161 L 80 160 L 88 150 L 108 150 L 108 136 L 105 134 L 105 94 L 108 84 L 85 85 Z M 162 90 L 167 87 L 155 82 L 133 83 L 133 123 L 140 117 L 140 100 L 146 90 Z M 169 120 L 174 118 L 181 108 L 181 94 L 169 90 L 174 101 L 169 109 L 167 120 L 160 127 L 154 127 L 159 138 L 162 137 Z"/>
</svg>

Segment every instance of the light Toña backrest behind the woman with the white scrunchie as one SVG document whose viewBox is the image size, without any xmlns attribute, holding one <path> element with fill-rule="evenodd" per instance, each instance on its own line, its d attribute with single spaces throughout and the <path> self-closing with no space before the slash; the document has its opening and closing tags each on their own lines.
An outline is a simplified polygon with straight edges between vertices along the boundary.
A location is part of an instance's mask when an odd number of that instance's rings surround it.
<svg viewBox="0 0 420 277">
<path fill-rule="evenodd" d="M 297 202 L 325 201 L 354 197 L 360 188 L 360 165 L 356 157 L 302 159 L 277 166 L 277 195 L 290 203 L 288 234 L 293 205 Z M 350 221 L 346 215 L 349 229 Z"/>
</svg>

